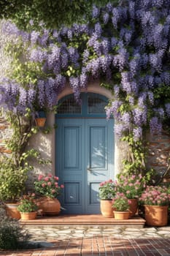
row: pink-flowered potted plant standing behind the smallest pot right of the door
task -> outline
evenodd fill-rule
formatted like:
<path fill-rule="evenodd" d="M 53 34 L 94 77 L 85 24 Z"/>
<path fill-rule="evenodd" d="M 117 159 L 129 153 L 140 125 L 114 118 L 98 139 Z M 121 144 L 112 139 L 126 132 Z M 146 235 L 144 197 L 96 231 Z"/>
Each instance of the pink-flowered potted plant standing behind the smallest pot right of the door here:
<path fill-rule="evenodd" d="M 123 176 L 120 175 L 115 182 L 115 189 L 117 192 L 122 192 L 125 197 L 131 200 L 130 204 L 130 216 L 133 217 L 138 209 L 138 198 L 142 195 L 145 182 L 144 177 L 141 174 Z"/>

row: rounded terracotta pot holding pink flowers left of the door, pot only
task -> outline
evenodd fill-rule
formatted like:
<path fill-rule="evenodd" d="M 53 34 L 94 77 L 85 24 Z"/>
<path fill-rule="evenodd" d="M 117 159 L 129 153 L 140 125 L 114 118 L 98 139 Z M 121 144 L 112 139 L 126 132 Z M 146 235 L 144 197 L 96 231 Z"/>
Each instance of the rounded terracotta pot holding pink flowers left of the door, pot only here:
<path fill-rule="evenodd" d="M 42 197 L 38 205 L 46 216 L 55 216 L 61 212 L 61 203 L 57 198 Z"/>

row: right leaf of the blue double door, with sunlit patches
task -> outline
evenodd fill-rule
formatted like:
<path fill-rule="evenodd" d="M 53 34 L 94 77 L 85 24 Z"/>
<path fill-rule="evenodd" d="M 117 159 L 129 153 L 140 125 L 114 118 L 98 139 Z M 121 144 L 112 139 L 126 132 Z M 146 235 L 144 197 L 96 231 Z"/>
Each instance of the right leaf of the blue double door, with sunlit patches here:
<path fill-rule="evenodd" d="M 98 188 L 101 181 L 113 178 L 113 120 L 105 118 L 86 119 L 85 131 L 86 141 L 90 150 L 86 163 L 88 197 L 86 197 L 85 211 L 87 214 L 100 213 Z M 108 140 L 110 135 L 110 143 Z M 108 154 L 112 156 L 108 161 Z"/>

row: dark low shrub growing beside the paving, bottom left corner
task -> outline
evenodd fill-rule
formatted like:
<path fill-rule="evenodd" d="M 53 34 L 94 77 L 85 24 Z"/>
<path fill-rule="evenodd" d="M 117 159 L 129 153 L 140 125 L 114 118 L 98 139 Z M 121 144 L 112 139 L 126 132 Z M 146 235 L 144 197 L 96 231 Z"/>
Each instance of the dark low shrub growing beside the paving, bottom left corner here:
<path fill-rule="evenodd" d="M 16 219 L 5 217 L 0 220 L 0 249 L 24 248 L 31 235 Z"/>

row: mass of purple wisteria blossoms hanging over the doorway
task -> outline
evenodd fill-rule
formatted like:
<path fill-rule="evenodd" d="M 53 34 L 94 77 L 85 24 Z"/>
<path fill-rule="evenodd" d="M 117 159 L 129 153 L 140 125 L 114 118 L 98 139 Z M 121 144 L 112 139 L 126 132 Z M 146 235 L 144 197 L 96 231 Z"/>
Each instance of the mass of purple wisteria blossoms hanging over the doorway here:
<path fill-rule="evenodd" d="M 102 79 L 113 91 L 107 117 L 115 117 L 119 137 L 131 132 L 140 140 L 146 126 L 159 133 L 161 121 L 170 117 L 169 1 L 94 6 L 88 24 L 58 31 L 26 33 L 11 23 L 5 31 L 21 37 L 28 49 L 19 72 L 1 83 L 0 103 L 9 110 L 52 109 L 66 82 L 79 101 L 89 80 Z"/>

